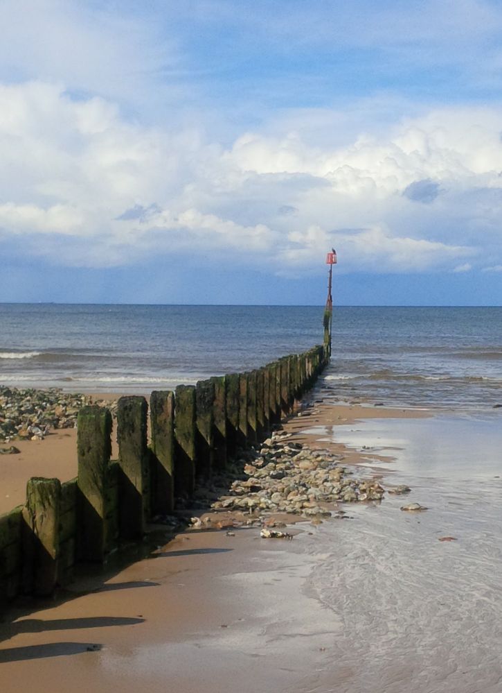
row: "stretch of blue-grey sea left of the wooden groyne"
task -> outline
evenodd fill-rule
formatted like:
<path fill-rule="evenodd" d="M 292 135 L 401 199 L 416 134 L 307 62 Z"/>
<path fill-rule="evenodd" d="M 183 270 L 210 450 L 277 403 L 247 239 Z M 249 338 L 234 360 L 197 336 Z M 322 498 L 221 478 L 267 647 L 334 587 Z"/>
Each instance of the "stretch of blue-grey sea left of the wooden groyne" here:
<path fill-rule="evenodd" d="M 0 384 L 141 392 L 257 368 L 322 341 L 323 308 L 0 305 Z"/>

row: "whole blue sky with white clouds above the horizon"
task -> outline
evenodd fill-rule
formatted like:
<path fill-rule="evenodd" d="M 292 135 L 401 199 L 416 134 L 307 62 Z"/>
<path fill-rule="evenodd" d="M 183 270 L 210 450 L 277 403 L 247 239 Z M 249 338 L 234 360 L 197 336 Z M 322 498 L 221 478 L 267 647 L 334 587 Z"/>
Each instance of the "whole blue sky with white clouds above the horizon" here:
<path fill-rule="evenodd" d="M 0 0 L 0 301 L 502 305 L 499 0 Z"/>

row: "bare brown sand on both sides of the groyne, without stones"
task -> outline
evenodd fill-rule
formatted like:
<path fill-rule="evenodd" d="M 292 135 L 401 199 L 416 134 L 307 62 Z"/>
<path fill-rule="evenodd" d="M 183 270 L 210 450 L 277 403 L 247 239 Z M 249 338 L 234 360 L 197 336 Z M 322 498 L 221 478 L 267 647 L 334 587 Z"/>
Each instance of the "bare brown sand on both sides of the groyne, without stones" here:
<path fill-rule="evenodd" d="M 299 435 L 349 420 L 422 415 L 316 405 L 287 429 Z M 2 482 L 10 497 L 19 502 L 17 487 L 41 473 L 44 455 L 53 464 L 46 473 L 75 476 L 69 434 L 23 446 L 19 469 Z M 318 436 L 301 437 L 326 447 L 316 443 Z M 363 458 L 358 453 L 350 461 Z M 6 460 L 15 468 L 9 456 L 0 465 Z M 320 693 L 316 681 L 336 658 L 329 636 L 341 624 L 303 591 L 306 576 L 323 560 L 302 549 L 318 528 L 306 522 L 294 531 L 291 542 L 262 540 L 256 528 L 235 529 L 235 536 L 225 529 L 188 531 L 142 561 L 80 578 L 57 601 L 18 606 L 0 625 L 0 690 Z M 338 671 L 330 690 L 343 690 L 346 676 L 350 672 Z"/>

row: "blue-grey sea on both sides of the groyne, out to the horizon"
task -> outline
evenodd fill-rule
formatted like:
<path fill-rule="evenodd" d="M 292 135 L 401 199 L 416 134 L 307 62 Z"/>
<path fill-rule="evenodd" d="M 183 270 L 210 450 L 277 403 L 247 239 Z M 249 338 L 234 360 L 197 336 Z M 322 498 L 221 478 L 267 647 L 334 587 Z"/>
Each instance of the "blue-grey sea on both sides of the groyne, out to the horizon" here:
<path fill-rule="evenodd" d="M 323 307 L 0 305 L 0 384 L 147 393 L 322 341 Z M 335 307 L 330 393 L 502 402 L 502 307 Z"/>

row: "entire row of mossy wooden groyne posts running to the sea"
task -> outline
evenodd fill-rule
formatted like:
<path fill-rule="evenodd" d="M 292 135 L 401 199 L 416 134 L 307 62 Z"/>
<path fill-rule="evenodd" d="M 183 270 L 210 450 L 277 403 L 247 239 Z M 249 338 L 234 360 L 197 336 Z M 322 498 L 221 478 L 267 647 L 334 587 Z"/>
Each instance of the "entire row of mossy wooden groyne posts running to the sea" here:
<path fill-rule="evenodd" d="M 80 562 L 106 560 L 122 540 L 141 540 L 147 520 L 189 504 L 197 484 L 225 469 L 294 409 L 327 362 L 325 347 L 264 368 L 120 397 L 118 460 L 111 461 L 109 409 L 78 414 L 78 477 L 35 477 L 26 504 L 0 516 L 0 599 L 51 594 Z"/>

